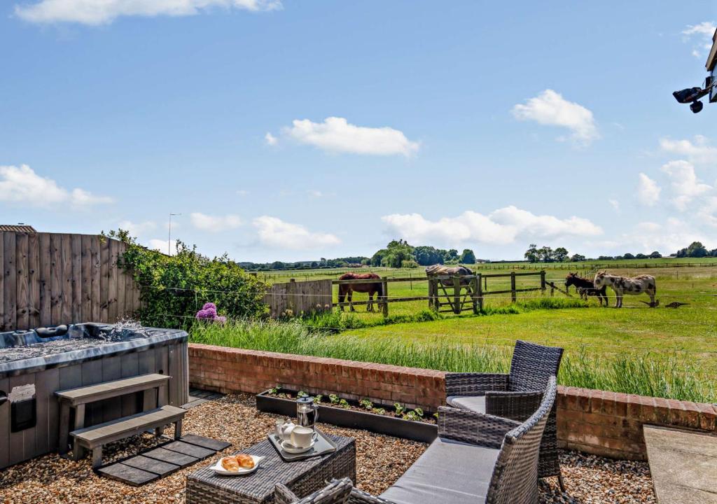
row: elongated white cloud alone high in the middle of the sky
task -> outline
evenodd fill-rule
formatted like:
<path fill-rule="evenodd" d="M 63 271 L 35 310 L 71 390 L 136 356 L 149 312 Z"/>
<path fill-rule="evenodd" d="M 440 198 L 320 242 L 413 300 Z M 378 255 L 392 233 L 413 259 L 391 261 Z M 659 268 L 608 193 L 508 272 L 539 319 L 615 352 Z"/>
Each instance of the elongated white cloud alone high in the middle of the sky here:
<path fill-rule="evenodd" d="M 324 151 L 391 156 L 411 156 L 419 148 L 402 131 L 384 126 L 369 128 L 349 124 L 344 118 L 326 118 L 323 123 L 295 119 L 284 132 L 295 141 Z"/>

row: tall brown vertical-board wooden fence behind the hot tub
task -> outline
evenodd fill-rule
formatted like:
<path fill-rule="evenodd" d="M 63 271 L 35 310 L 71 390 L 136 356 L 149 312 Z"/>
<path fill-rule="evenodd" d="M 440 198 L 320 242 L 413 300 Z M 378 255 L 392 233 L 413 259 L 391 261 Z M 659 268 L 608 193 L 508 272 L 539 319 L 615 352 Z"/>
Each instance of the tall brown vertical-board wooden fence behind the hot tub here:
<path fill-rule="evenodd" d="M 140 294 L 118 267 L 124 251 L 96 234 L 0 232 L 0 331 L 133 315 Z"/>

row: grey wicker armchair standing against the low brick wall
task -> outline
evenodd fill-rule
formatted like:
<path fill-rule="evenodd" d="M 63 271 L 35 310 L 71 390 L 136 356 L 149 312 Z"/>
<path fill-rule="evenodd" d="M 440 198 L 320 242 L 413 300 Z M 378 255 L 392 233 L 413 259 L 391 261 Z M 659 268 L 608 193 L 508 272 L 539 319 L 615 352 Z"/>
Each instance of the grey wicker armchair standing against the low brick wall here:
<path fill-rule="evenodd" d="M 558 375 L 562 356 L 562 348 L 518 340 L 510 374 L 446 374 L 446 402 L 456 408 L 523 422 L 541 404 L 542 391 L 549 377 Z M 545 427 L 538 465 L 538 477 L 548 476 L 557 476 L 564 490 L 558 460 L 556 406 Z"/>

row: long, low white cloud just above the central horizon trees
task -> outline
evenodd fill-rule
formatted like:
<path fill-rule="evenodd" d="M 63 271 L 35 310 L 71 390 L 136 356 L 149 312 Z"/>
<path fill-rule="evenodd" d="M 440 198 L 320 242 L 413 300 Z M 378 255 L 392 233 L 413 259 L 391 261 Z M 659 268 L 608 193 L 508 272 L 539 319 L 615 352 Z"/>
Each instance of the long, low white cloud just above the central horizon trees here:
<path fill-rule="evenodd" d="M 445 246 L 464 242 L 511 244 L 519 237 L 549 239 L 602 234 L 602 229 L 587 219 L 536 215 L 512 205 L 488 215 L 468 210 L 457 217 L 442 217 L 435 221 L 421 214 L 391 214 L 381 217 L 381 220 L 391 236 L 414 243 Z"/>

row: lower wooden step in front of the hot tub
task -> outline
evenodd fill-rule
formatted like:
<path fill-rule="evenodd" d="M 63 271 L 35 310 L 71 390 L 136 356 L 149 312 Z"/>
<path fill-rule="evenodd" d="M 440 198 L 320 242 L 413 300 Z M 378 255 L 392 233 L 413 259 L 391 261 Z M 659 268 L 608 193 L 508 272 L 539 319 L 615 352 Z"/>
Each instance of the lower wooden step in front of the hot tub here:
<path fill-rule="evenodd" d="M 174 439 L 179 439 L 185 413 L 185 409 L 166 405 L 148 412 L 78 429 L 70 432 L 70 436 L 75 439 L 75 453 L 81 454 L 82 448 L 92 450 L 92 467 L 96 468 L 102 465 L 103 445 L 141 434 L 147 429 L 161 429 L 167 424 L 175 424 Z"/>

